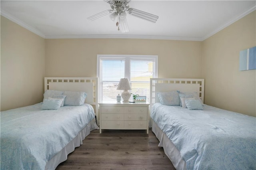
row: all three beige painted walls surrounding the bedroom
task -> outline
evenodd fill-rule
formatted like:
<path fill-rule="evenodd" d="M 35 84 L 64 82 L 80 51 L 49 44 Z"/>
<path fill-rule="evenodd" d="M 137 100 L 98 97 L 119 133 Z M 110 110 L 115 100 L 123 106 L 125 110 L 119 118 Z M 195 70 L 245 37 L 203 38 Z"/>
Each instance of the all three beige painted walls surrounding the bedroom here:
<path fill-rule="evenodd" d="M 44 73 L 96 77 L 97 54 L 137 54 L 158 55 L 158 77 L 204 78 L 206 104 L 256 116 L 256 70 L 239 71 L 239 51 L 256 45 L 255 16 L 203 42 L 44 40 L 1 16 L 1 110 L 42 101 Z"/>

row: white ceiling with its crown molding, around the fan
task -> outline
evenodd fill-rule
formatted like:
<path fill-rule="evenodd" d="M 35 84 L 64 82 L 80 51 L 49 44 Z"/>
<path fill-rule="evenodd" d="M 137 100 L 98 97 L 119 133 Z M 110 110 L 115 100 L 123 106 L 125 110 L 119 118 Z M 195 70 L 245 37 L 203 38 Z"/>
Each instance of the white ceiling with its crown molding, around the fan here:
<path fill-rule="evenodd" d="M 148 38 L 202 41 L 256 9 L 255 0 L 131 0 L 136 8 L 159 16 L 156 23 L 127 15 L 129 32 L 104 16 L 103 0 L 1 0 L 1 15 L 43 38 Z"/>

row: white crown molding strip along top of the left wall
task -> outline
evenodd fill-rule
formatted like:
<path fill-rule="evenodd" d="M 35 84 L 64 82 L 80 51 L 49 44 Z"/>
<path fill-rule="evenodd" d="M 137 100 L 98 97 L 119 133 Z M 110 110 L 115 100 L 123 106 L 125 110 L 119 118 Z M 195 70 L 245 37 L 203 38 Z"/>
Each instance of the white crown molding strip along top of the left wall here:
<path fill-rule="evenodd" d="M 19 20 L 18 18 L 12 16 L 8 12 L 5 12 L 4 10 L 1 10 L 1 15 L 4 16 L 5 18 L 8 18 L 12 22 L 14 22 L 14 23 L 16 23 L 16 24 L 26 28 L 27 30 L 33 32 L 34 34 L 36 34 L 36 35 L 38 35 L 38 36 L 40 36 L 42 38 L 45 38 L 45 35 L 42 32 L 40 32 L 40 31 L 36 30 L 35 28 L 29 26 L 25 22 L 22 22 L 21 20 Z"/>

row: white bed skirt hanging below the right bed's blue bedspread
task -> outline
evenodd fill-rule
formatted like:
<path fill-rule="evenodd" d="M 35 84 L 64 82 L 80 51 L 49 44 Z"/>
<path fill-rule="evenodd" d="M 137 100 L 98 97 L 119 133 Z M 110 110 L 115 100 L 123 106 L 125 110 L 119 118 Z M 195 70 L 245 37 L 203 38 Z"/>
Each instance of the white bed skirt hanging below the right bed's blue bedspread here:
<path fill-rule="evenodd" d="M 180 156 L 180 152 L 172 141 L 166 136 L 166 134 L 156 125 L 156 123 L 151 119 L 152 132 L 156 135 L 160 141 L 158 146 L 164 148 L 164 153 L 171 160 L 173 166 L 176 170 L 186 170 L 186 162 Z"/>

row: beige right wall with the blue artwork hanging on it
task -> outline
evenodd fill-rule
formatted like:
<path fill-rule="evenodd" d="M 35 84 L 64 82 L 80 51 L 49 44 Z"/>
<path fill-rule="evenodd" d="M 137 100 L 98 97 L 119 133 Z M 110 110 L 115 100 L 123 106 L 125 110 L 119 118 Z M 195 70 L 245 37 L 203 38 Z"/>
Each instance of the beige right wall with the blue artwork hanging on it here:
<path fill-rule="evenodd" d="M 239 51 L 256 46 L 256 12 L 202 43 L 204 102 L 256 116 L 256 70 L 239 71 Z"/>

